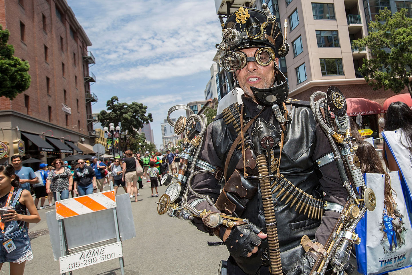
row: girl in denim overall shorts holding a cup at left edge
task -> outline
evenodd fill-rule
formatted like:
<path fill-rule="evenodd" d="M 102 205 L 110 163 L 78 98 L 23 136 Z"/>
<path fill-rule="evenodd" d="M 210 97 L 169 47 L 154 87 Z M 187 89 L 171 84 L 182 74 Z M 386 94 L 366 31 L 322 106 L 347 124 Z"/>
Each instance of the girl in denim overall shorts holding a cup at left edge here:
<path fill-rule="evenodd" d="M 23 275 L 26 261 L 33 259 L 26 223 L 38 223 L 40 216 L 30 191 L 19 188 L 19 176 L 9 164 L 0 166 L 0 204 L 11 208 L 1 214 L 0 270 L 9 262 L 11 275 Z"/>

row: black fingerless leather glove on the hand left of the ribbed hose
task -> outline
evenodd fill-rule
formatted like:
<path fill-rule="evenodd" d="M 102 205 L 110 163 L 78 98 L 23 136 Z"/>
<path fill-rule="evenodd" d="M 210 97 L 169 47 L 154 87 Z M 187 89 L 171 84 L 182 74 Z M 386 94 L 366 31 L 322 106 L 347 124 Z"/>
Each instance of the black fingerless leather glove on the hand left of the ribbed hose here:
<path fill-rule="evenodd" d="M 223 244 L 226 245 L 230 255 L 247 258 L 248 253 L 252 253 L 252 250 L 262 242 L 257 235 L 260 231 L 262 228 L 253 223 L 235 226 Z"/>

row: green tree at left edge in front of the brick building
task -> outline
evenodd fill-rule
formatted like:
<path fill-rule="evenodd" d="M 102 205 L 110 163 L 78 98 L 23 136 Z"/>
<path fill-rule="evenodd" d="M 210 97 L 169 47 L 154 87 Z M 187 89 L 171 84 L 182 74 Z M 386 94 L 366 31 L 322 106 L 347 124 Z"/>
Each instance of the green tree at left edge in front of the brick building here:
<path fill-rule="evenodd" d="M 0 96 L 12 100 L 30 87 L 31 77 L 28 62 L 14 56 L 13 45 L 7 44 L 9 36 L 9 30 L 0 25 Z"/>

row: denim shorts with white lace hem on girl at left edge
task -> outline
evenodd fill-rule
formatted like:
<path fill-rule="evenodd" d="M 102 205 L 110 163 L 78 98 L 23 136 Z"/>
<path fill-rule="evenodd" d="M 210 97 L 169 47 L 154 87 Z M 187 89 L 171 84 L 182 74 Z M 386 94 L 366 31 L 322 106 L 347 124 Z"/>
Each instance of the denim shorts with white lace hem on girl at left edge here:
<path fill-rule="evenodd" d="M 10 253 L 7 253 L 7 250 L 3 246 L 3 242 L 9 239 L 13 240 L 16 249 Z M 27 227 L 22 228 L 15 233 L 2 235 L 0 237 L 0 242 L 0 263 L 23 263 L 24 261 L 30 261 L 33 259 Z"/>

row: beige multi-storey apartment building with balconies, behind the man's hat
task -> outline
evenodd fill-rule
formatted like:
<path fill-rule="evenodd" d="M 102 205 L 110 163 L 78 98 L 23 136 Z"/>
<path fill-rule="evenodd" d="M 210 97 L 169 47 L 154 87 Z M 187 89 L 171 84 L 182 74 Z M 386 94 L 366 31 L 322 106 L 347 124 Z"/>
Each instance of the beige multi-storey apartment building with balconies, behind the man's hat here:
<path fill-rule="evenodd" d="M 383 8 L 383 2 L 390 7 L 391 2 L 409 1 L 278 1 L 281 21 L 287 19 L 289 26 L 286 65 L 290 97 L 309 100 L 313 92 L 326 92 L 330 85 L 339 87 L 346 98 L 363 97 L 380 104 L 393 96 L 392 91 L 373 91 L 366 83 L 358 68 L 363 58 L 371 56 L 368 49 L 351 46 L 352 40 L 368 35 L 370 14 Z"/>

